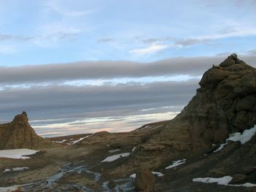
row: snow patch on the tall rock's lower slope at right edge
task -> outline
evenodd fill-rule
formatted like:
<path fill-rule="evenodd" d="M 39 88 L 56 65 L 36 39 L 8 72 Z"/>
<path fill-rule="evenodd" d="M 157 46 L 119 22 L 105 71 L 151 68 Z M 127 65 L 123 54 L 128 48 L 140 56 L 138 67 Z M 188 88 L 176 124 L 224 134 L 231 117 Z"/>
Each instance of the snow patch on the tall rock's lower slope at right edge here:
<path fill-rule="evenodd" d="M 241 142 L 241 145 L 243 145 L 244 143 L 252 139 L 255 133 L 256 133 L 256 125 L 253 128 L 244 130 L 242 134 L 239 132 L 230 134 L 229 137 L 226 139 L 226 142 L 220 145 L 219 148 L 217 148 L 217 150 L 214 150 L 214 153 L 219 150 L 222 150 L 227 145 L 227 141 Z"/>

